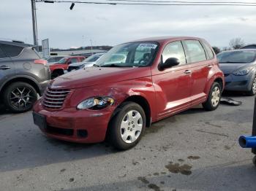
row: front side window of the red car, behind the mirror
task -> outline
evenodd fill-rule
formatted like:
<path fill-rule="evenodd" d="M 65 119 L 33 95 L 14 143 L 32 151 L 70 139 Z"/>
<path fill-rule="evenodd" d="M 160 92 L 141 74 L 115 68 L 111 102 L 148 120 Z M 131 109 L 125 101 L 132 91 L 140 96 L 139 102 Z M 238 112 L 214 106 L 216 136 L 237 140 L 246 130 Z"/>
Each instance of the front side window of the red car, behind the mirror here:
<path fill-rule="evenodd" d="M 166 45 L 162 51 L 162 62 L 165 63 L 168 58 L 178 58 L 179 65 L 186 64 L 184 49 L 180 41 Z"/>

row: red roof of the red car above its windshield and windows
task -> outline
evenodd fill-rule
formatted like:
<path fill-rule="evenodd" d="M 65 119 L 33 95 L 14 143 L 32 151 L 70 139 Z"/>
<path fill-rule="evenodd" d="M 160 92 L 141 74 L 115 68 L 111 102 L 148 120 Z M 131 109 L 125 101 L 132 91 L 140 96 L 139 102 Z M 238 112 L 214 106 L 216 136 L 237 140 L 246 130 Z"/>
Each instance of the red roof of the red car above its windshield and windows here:
<path fill-rule="evenodd" d="M 184 39 L 195 39 L 200 40 L 201 38 L 192 37 L 192 36 L 157 36 L 157 37 L 150 37 L 145 39 L 138 39 L 131 42 L 170 42 L 173 40 L 184 40 Z"/>

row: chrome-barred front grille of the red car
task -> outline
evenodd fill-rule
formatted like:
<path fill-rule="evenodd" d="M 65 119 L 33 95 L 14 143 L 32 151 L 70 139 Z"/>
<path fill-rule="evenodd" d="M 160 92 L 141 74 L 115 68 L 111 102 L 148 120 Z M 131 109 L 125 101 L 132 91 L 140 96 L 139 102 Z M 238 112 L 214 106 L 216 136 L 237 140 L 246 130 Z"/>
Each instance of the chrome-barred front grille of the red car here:
<path fill-rule="evenodd" d="M 47 87 L 42 98 L 42 104 L 49 109 L 60 109 L 69 92 L 70 90 L 67 89 L 57 90 Z"/>

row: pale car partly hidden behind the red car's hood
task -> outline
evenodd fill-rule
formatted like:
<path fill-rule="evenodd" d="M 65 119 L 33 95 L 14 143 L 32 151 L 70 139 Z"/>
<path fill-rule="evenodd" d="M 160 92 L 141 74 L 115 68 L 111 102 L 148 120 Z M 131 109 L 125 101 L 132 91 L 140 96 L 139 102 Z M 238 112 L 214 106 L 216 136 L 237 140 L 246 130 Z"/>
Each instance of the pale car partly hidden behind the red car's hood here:
<path fill-rule="evenodd" d="M 94 55 L 89 56 L 88 58 L 86 58 L 86 60 L 84 60 L 83 62 L 80 63 L 71 63 L 69 64 L 69 67 L 67 68 L 67 71 L 74 71 L 74 70 L 78 70 L 78 69 L 83 69 L 83 67 L 91 67 L 94 66 L 94 64 L 96 63 L 96 61 L 102 57 L 102 55 L 104 55 L 105 53 L 97 53 Z"/>

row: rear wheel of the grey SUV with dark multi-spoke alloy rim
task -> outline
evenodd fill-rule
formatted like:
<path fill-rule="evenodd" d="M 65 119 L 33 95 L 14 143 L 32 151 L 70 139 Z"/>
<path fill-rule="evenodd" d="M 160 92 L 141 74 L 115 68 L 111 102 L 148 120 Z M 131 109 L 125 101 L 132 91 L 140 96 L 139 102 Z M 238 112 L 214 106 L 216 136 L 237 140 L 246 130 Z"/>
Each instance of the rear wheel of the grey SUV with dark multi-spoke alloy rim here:
<path fill-rule="evenodd" d="M 4 104 L 11 112 L 27 112 L 35 101 L 37 91 L 26 82 L 14 82 L 4 91 Z"/>

